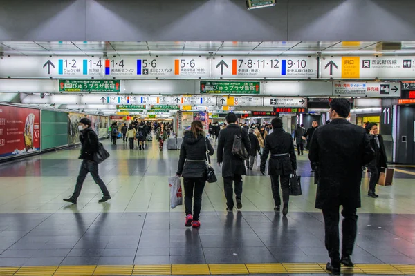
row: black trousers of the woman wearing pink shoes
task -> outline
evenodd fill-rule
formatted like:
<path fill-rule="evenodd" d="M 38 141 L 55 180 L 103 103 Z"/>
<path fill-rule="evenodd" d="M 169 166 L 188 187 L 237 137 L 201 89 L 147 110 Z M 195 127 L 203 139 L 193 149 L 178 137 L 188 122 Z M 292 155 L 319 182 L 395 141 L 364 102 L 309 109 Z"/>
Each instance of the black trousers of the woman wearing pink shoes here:
<path fill-rule="evenodd" d="M 186 215 L 193 215 L 193 220 L 199 221 L 199 215 L 202 208 L 202 195 L 205 188 L 205 177 L 183 178 L 183 186 L 185 187 L 185 210 Z M 194 204 L 192 204 L 194 199 Z M 193 213 L 192 213 L 193 206 Z"/>

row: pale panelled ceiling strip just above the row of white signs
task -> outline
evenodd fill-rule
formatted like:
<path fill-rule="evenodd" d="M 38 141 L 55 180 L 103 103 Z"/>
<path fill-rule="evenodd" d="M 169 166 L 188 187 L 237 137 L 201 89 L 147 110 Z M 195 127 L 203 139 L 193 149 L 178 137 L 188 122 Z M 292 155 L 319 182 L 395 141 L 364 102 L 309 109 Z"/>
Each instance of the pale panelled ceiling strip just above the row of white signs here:
<path fill-rule="evenodd" d="M 380 41 L 51 41 L 0 42 L 4 55 L 414 55 L 415 41 L 400 50 L 377 50 Z"/>

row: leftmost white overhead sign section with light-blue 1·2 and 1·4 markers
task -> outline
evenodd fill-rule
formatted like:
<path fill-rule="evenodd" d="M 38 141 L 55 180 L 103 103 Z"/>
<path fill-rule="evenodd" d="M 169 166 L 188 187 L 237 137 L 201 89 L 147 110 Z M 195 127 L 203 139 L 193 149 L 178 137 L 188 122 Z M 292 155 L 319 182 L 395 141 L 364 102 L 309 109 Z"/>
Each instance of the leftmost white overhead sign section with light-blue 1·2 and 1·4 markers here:
<path fill-rule="evenodd" d="M 75 78 L 102 77 L 104 61 L 100 57 L 3 57 L 0 77 Z"/>

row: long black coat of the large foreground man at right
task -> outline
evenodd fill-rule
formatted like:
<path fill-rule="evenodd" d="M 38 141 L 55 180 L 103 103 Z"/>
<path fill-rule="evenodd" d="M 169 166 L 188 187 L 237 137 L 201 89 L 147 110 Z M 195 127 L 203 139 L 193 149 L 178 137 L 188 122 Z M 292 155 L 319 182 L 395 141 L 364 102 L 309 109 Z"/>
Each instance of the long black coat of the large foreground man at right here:
<path fill-rule="evenodd" d="M 362 166 L 373 158 L 365 129 L 346 119 L 333 119 L 315 130 L 308 153 L 319 175 L 315 208 L 360 208 Z"/>

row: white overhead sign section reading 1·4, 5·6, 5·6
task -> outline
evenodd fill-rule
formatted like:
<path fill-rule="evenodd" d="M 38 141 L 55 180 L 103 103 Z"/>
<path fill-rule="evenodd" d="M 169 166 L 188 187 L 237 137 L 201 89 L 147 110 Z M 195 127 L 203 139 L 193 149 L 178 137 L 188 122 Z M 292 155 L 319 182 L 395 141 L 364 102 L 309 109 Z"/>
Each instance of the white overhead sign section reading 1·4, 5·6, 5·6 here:
<path fill-rule="evenodd" d="M 209 77 L 206 57 L 115 57 L 104 60 L 104 77 L 124 79 Z"/>

